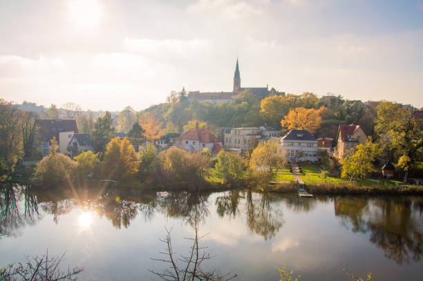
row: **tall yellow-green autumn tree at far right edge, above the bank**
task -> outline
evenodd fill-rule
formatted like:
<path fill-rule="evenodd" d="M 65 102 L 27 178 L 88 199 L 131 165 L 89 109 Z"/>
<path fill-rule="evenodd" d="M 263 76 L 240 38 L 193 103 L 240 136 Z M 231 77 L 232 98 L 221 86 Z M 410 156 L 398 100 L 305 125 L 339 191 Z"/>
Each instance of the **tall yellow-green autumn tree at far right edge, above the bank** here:
<path fill-rule="evenodd" d="M 389 158 L 392 159 L 394 153 L 400 156 L 399 159 L 402 158 L 401 167 L 406 172 L 404 182 L 407 182 L 408 171 L 420 158 L 422 151 L 423 135 L 420 124 L 400 104 L 384 101 L 376 109 L 375 131 L 379 142 L 388 151 Z"/>

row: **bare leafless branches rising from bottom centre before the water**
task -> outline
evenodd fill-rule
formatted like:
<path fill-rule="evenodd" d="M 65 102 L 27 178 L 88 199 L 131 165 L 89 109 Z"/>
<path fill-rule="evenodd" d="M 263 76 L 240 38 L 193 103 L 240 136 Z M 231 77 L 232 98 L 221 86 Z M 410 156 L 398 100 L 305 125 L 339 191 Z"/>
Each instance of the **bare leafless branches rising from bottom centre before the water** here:
<path fill-rule="evenodd" d="M 226 281 L 236 278 L 236 274 L 226 273 L 222 274 L 217 269 L 212 271 L 206 271 L 202 268 L 202 264 L 205 260 L 211 258 L 210 253 L 205 251 L 207 247 L 199 246 L 198 241 L 204 237 L 198 236 L 198 224 L 200 222 L 200 215 L 196 212 L 194 215 L 191 215 L 189 218 L 189 223 L 194 228 L 195 236 L 194 238 L 185 238 L 189 240 L 192 244 L 189 248 L 189 253 L 187 255 L 178 255 L 173 252 L 172 243 L 171 243 L 171 231 L 172 229 L 167 229 L 166 238 L 161 239 L 160 241 L 166 244 L 164 251 L 160 253 L 165 256 L 165 258 L 151 258 L 152 260 L 158 260 L 159 262 L 164 262 L 169 264 L 167 269 L 164 269 L 162 272 L 152 271 L 151 273 L 158 275 L 162 280 L 165 281 L 194 281 L 194 280 L 207 280 L 207 281 Z"/>

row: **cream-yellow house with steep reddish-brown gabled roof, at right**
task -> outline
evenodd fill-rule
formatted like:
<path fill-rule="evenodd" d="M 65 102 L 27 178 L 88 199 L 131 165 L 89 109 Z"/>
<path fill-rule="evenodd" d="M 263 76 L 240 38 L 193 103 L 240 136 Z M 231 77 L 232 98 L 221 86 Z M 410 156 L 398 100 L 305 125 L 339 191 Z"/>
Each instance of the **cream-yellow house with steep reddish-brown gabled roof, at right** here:
<path fill-rule="evenodd" d="M 344 159 L 345 155 L 354 150 L 357 145 L 367 142 L 364 130 L 355 124 L 339 125 L 338 127 L 338 144 L 335 148 L 334 155 L 337 159 Z"/>

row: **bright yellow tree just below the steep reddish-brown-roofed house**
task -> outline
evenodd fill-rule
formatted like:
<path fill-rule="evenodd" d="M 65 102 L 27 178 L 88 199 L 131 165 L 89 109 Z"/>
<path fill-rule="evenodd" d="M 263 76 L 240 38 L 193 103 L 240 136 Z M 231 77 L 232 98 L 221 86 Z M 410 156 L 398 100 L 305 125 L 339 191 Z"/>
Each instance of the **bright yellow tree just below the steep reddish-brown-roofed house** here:
<path fill-rule="evenodd" d="M 350 153 L 341 162 L 341 176 L 350 177 L 352 180 L 353 177 L 368 177 L 370 173 L 376 171 L 373 162 L 382 154 L 382 148 L 379 144 L 373 144 L 370 138 L 365 144 L 359 144 L 355 151 L 350 151 Z"/>

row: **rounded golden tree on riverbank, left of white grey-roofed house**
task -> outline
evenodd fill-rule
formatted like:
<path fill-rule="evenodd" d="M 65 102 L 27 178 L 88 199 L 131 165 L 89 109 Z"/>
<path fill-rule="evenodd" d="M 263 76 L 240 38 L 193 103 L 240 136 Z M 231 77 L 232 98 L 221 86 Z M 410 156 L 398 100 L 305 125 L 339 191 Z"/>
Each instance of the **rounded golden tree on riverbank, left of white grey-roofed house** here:
<path fill-rule="evenodd" d="M 277 175 L 278 170 L 286 164 L 285 157 L 277 153 L 277 144 L 270 141 L 259 144 L 250 158 L 250 169 L 265 173 L 268 180 Z"/>

